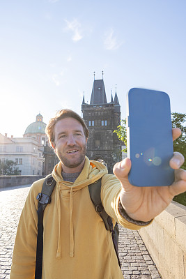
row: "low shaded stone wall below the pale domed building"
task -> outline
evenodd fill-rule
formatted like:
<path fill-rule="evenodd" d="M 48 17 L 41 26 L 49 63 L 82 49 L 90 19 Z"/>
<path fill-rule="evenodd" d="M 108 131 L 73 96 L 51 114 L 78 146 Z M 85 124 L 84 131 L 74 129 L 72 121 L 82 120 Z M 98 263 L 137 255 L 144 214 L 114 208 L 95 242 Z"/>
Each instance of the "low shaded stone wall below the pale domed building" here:
<path fill-rule="evenodd" d="M 42 179 L 42 175 L 14 175 L 14 176 L 0 176 L 0 188 L 6 186 L 20 186 L 32 184 L 38 179 Z"/>

